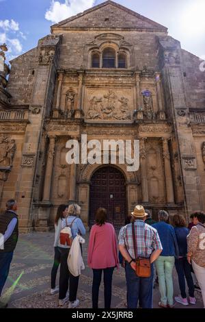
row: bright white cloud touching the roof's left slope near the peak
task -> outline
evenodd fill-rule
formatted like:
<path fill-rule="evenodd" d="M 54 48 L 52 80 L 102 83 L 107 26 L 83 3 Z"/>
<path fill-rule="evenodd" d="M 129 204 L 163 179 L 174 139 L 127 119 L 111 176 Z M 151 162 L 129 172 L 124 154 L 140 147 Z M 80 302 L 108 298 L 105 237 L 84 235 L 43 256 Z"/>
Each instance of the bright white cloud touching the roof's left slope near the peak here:
<path fill-rule="evenodd" d="M 83 12 L 94 5 L 94 0 L 64 0 L 64 3 L 52 0 L 49 10 L 46 11 L 46 20 L 59 23 L 70 16 Z"/>

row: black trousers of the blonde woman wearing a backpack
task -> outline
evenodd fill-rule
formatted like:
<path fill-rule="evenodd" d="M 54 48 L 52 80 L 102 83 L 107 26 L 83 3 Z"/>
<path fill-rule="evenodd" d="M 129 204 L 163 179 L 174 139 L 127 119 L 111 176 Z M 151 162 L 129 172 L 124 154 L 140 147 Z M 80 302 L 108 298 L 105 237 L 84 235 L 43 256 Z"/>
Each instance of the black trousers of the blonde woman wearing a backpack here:
<path fill-rule="evenodd" d="M 68 291 L 69 284 L 69 301 L 75 301 L 77 299 L 77 290 L 79 286 L 79 276 L 73 276 L 68 269 L 68 253 L 70 249 L 59 247 L 61 253 L 61 266 L 59 275 L 59 299 L 64 299 Z"/>

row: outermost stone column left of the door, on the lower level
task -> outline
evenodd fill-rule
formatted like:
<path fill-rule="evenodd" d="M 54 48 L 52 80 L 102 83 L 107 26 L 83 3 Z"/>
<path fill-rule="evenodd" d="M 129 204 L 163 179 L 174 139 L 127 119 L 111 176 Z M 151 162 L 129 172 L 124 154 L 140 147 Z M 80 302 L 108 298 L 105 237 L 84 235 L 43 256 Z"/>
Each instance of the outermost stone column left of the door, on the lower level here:
<path fill-rule="evenodd" d="M 50 201 L 51 195 L 51 181 L 52 181 L 52 173 L 53 173 L 53 158 L 55 155 L 55 140 L 56 136 L 49 136 L 49 155 L 46 164 L 46 175 L 44 181 L 44 195 L 43 202 Z"/>

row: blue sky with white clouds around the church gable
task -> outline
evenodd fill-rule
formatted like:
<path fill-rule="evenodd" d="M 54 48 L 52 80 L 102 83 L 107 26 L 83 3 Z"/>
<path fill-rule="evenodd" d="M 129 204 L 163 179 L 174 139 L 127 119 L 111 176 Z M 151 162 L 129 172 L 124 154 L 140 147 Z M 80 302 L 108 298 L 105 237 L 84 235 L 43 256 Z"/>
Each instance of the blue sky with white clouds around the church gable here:
<path fill-rule="evenodd" d="M 8 60 L 38 45 L 50 26 L 104 0 L 0 0 L 0 44 Z M 168 28 L 183 49 L 205 60 L 205 0 L 117 0 Z"/>

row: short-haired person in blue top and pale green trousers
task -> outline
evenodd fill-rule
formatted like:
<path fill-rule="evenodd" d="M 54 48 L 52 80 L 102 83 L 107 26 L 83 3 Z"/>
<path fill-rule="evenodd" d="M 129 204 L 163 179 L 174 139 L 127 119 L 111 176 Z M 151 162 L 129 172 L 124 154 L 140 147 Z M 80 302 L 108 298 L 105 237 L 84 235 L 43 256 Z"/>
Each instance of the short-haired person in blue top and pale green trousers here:
<path fill-rule="evenodd" d="M 178 244 L 174 227 L 167 223 L 169 214 L 165 210 L 160 210 L 158 219 L 159 223 L 154 223 L 152 227 L 157 230 L 163 247 L 163 251 L 155 261 L 156 273 L 159 279 L 159 292 L 161 294 L 159 306 L 161 308 L 173 308 L 174 288 L 172 273 L 175 261 L 174 256 L 178 257 Z"/>

